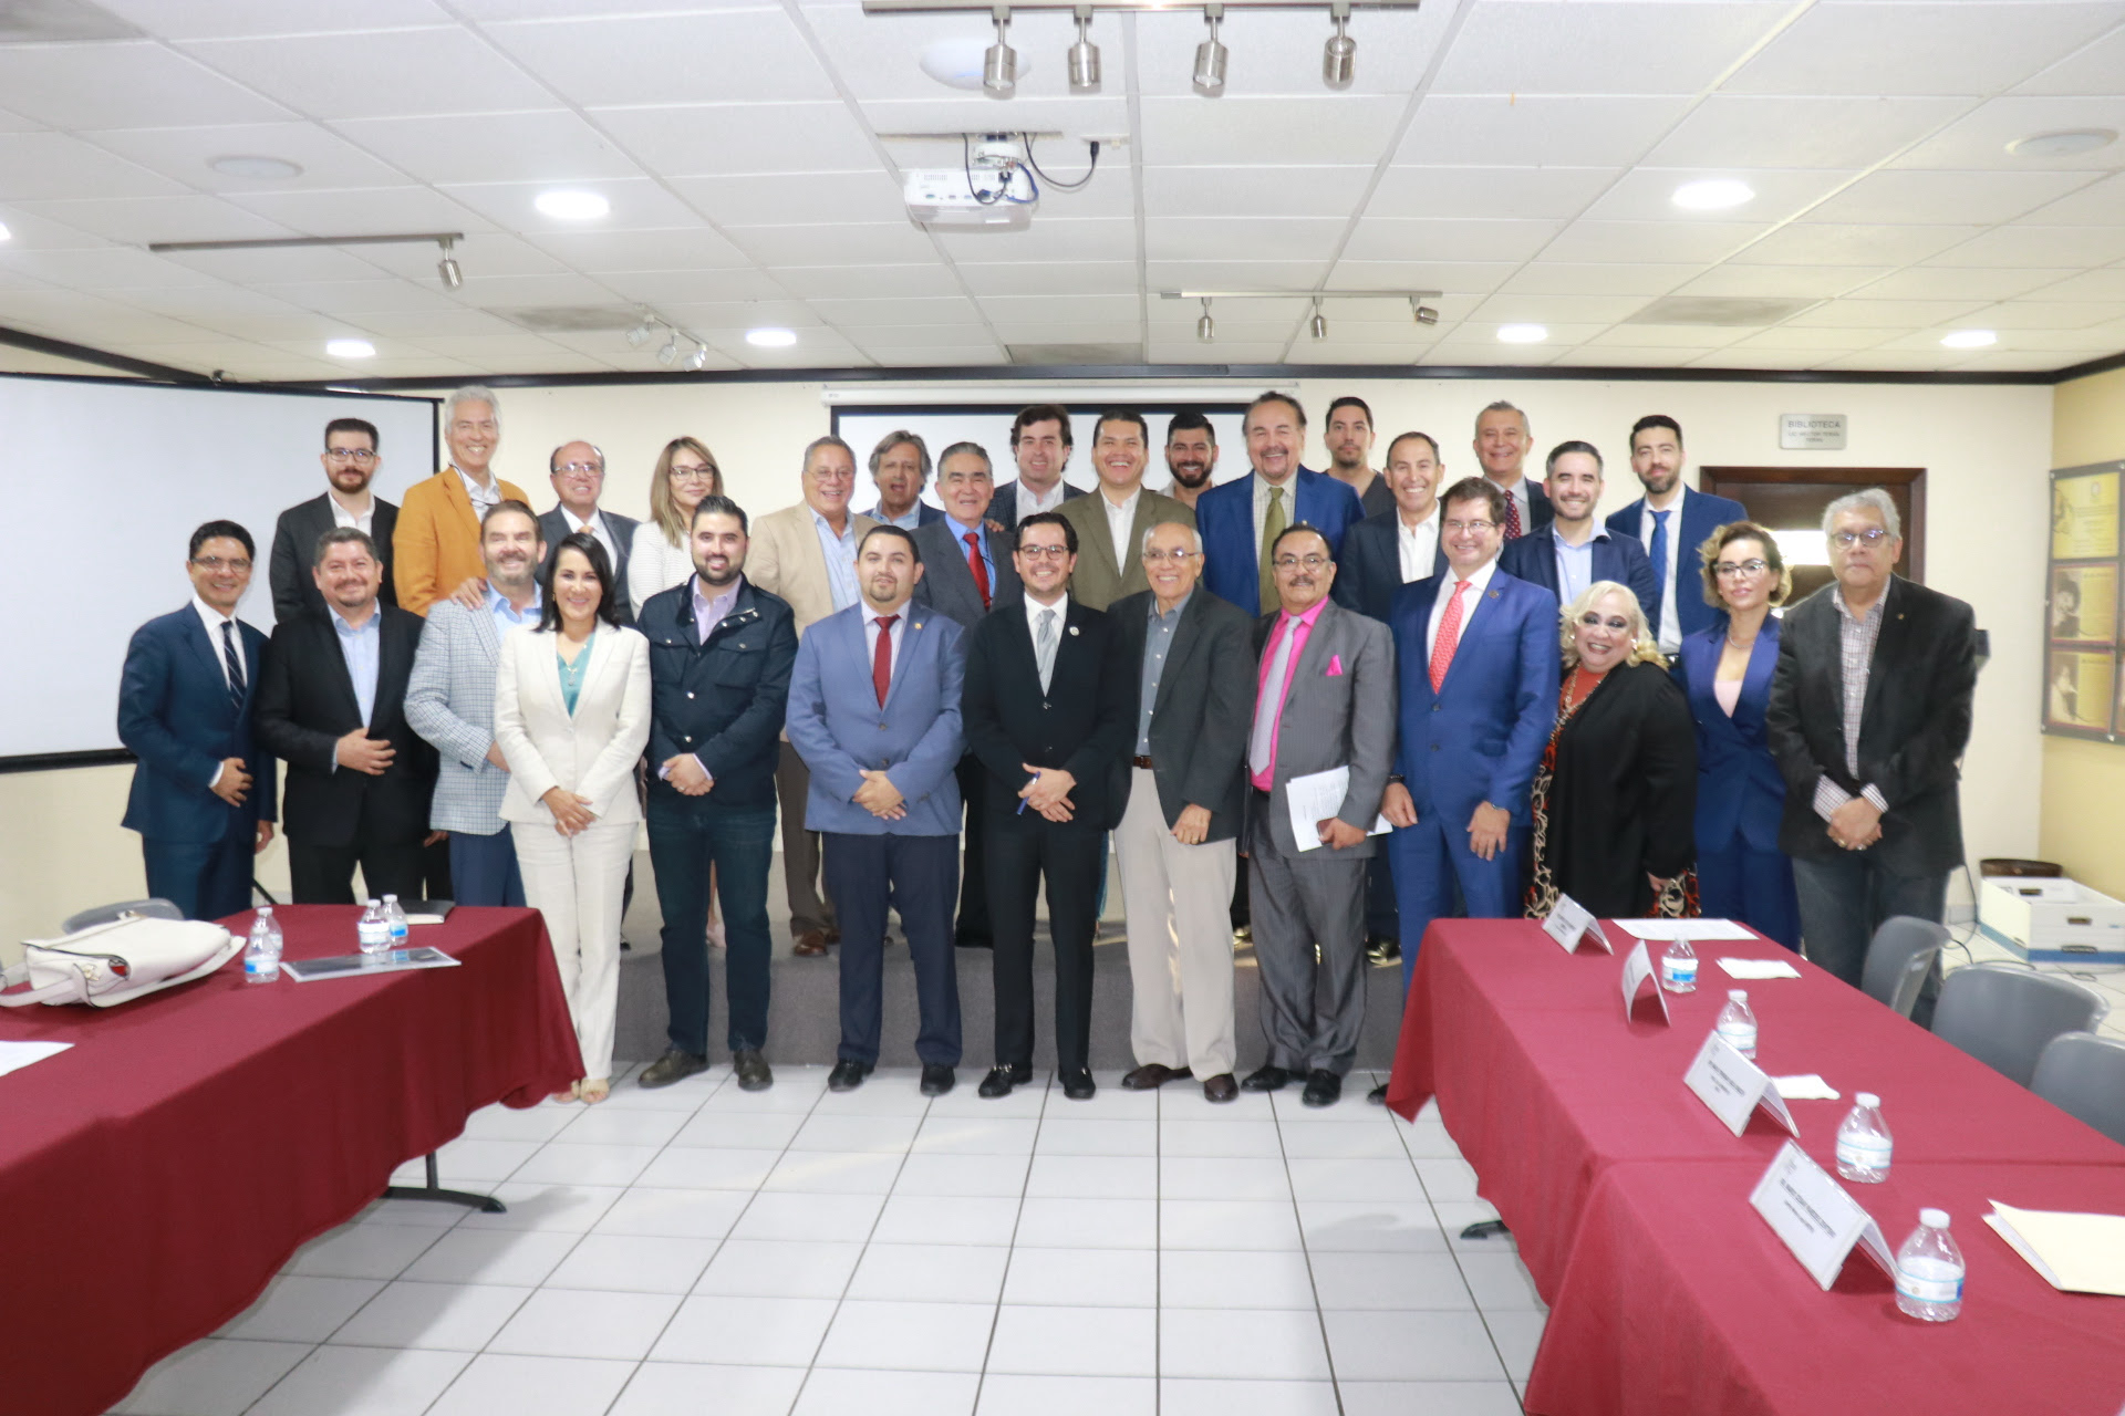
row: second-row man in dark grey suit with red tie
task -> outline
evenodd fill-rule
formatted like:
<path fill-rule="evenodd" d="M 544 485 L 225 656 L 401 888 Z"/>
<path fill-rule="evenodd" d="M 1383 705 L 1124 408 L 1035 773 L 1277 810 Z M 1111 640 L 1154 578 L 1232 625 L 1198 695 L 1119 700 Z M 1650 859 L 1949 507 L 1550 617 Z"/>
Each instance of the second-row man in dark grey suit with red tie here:
<path fill-rule="evenodd" d="M 1014 535 L 988 522 L 994 476 L 982 444 L 956 442 L 946 448 L 937 459 L 937 499 L 944 501 L 944 516 L 916 526 L 914 533 L 924 567 L 922 580 L 916 582 L 916 601 L 960 628 L 973 628 L 992 605 L 1020 597 L 1018 571 L 1012 567 Z M 988 866 L 982 856 L 982 802 L 988 788 L 982 758 L 973 756 L 973 747 L 958 760 L 958 796 L 967 802 L 967 834 L 954 938 L 960 949 L 990 949 L 994 934 L 988 928 Z"/>

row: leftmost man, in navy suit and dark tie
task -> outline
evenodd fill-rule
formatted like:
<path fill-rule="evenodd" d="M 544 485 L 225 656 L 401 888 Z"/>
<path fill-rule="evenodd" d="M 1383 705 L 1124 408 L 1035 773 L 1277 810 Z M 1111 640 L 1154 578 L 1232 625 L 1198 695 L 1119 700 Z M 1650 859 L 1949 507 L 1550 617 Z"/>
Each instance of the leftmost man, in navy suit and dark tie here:
<path fill-rule="evenodd" d="M 266 635 L 236 618 L 255 556 L 232 520 L 193 531 L 191 603 L 136 628 L 119 675 L 119 741 L 138 758 L 125 828 L 147 892 L 185 919 L 251 904 L 251 858 L 276 819 L 274 760 L 251 741 Z"/>

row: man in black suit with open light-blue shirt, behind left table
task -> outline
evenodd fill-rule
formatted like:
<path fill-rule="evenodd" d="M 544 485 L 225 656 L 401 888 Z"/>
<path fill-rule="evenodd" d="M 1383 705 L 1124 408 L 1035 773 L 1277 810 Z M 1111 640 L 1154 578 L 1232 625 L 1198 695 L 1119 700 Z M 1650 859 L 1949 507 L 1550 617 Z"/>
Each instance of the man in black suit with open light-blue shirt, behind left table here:
<path fill-rule="evenodd" d="M 406 722 L 421 616 L 380 603 L 376 541 L 334 526 L 310 577 L 325 609 L 283 620 L 259 673 L 257 739 L 287 762 L 280 826 L 295 904 L 421 896 L 436 749 Z"/>

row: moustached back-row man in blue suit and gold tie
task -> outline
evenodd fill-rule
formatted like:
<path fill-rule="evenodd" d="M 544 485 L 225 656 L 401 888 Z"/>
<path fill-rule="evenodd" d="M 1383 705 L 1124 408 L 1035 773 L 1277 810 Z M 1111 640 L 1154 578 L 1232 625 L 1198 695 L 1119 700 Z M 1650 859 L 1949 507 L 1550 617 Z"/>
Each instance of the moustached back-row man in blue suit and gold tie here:
<path fill-rule="evenodd" d="M 1203 586 L 1252 616 L 1277 607 L 1269 546 L 1286 526 L 1305 522 L 1341 554 L 1343 531 L 1364 520 L 1358 493 L 1324 471 L 1298 465 L 1307 448 L 1307 410 L 1288 393 L 1264 393 L 1247 405 L 1247 461 L 1254 471 L 1213 486 L 1196 501 L 1203 535 Z"/>

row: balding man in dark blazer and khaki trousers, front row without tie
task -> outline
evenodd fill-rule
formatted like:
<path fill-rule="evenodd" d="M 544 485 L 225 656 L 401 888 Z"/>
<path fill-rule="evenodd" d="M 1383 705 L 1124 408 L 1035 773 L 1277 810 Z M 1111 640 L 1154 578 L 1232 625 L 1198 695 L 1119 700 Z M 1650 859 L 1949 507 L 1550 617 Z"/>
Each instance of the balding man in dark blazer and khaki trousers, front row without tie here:
<path fill-rule="evenodd" d="M 1254 624 L 1196 586 L 1203 537 L 1160 522 L 1141 539 L 1148 590 L 1118 599 L 1120 654 L 1139 671 L 1137 745 L 1122 824 L 1114 832 L 1128 909 L 1135 989 L 1130 1091 L 1179 1076 L 1230 1102 L 1232 881 L 1247 813 L 1241 766 L 1254 715 Z"/>

